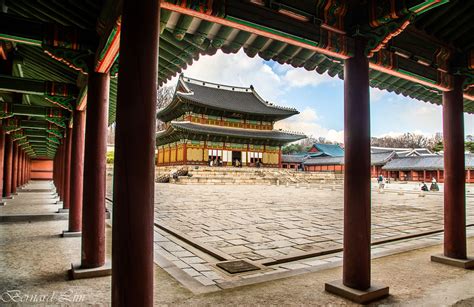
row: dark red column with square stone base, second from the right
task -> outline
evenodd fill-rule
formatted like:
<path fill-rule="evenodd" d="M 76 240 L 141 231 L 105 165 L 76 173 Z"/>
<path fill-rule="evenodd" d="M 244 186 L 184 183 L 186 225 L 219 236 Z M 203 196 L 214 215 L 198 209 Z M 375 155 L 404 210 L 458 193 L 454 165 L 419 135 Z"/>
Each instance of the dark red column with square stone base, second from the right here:
<path fill-rule="evenodd" d="M 355 38 L 344 62 L 344 251 L 343 279 L 326 291 L 365 303 L 388 295 L 370 280 L 370 96 L 365 40 Z M 354 291 L 359 290 L 359 292 Z"/>

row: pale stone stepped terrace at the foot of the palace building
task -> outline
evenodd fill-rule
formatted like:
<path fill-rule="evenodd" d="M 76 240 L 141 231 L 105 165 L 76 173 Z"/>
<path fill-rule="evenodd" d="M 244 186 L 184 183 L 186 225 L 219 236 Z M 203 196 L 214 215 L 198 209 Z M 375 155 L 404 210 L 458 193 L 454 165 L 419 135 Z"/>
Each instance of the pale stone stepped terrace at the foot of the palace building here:
<path fill-rule="evenodd" d="M 157 176 L 169 174 L 179 167 L 158 167 Z M 343 176 L 330 172 L 296 172 L 275 168 L 235 168 L 188 166 L 190 176 L 171 179 L 175 184 L 260 184 L 260 185 L 308 185 L 342 184 Z"/>

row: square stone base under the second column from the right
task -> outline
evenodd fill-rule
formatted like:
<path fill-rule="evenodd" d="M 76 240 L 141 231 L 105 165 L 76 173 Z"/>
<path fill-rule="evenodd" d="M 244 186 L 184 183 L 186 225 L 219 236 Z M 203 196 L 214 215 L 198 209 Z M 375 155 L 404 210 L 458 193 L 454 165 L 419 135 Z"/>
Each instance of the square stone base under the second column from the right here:
<path fill-rule="evenodd" d="M 385 286 L 372 284 L 372 286 L 367 290 L 358 290 L 345 286 L 342 283 L 342 280 L 326 283 L 324 285 L 324 290 L 358 304 L 367 304 L 389 295 L 389 288 Z"/>

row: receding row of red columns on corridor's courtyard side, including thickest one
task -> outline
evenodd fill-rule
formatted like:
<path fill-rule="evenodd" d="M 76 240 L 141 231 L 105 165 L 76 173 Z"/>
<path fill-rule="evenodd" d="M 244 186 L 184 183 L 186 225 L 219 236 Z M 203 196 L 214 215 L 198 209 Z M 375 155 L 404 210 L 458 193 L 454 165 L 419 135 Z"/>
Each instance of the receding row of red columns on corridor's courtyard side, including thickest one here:
<path fill-rule="evenodd" d="M 114 305 L 153 305 L 158 38 L 159 1 L 125 1 L 114 165 Z M 54 158 L 57 194 L 69 208 L 68 231 L 82 232 L 81 268 L 87 269 L 105 264 L 109 82 L 108 73 L 89 72 L 87 111 L 74 111 Z"/>

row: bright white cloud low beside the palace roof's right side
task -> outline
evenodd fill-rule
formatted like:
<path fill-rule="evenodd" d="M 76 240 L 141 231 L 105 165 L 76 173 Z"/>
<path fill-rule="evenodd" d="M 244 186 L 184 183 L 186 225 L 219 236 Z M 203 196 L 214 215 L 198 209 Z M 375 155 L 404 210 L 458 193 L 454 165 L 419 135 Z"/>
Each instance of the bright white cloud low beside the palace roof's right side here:
<path fill-rule="evenodd" d="M 315 109 L 307 107 L 300 114 L 279 121 L 276 129 L 303 132 L 308 137 L 324 137 L 330 141 L 344 142 L 344 131 L 336 131 L 322 127 L 318 123 L 319 116 Z"/>

